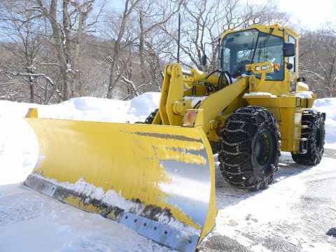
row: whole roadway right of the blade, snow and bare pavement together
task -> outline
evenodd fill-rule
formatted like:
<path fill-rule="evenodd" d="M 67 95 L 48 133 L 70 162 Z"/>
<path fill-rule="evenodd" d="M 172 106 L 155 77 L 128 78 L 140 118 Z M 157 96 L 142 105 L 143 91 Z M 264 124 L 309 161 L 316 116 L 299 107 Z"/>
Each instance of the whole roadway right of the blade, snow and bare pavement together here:
<path fill-rule="evenodd" d="M 315 167 L 281 153 L 274 183 L 252 193 L 231 188 L 216 167 L 216 228 L 200 251 L 336 251 L 336 150 L 325 152 Z"/>

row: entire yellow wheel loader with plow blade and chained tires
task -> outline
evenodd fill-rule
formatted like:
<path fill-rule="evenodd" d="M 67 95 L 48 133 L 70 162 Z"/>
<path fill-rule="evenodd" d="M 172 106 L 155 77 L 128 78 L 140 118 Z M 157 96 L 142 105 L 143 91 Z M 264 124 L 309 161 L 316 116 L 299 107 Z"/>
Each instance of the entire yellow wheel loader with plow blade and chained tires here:
<path fill-rule="evenodd" d="M 25 185 L 127 225 L 179 251 L 214 228 L 215 172 L 247 190 L 267 188 L 280 151 L 321 161 L 325 114 L 298 75 L 298 34 L 251 25 L 221 36 L 211 72 L 165 67 L 160 106 L 146 124 L 25 118 L 39 141 Z"/>

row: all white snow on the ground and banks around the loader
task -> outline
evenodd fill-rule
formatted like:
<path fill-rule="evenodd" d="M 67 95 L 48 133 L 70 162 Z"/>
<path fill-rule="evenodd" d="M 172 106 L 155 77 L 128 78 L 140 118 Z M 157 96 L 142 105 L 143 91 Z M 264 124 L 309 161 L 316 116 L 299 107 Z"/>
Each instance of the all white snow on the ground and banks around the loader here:
<path fill-rule="evenodd" d="M 57 202 L 22 184 L 38 155 L 34 132 L 22 119 L 29 107 L 38 107 L 42 118 L 134 123 L 144 121 L 158 108 L 159 99 L 160 94 L 152 92 L 128 102 L 93 97 L 49 106 L 0 101 L 0 251 L 170 251 L 123 225 Z M 318 99 L 314 106 L 327 113 L 325 147 L 336 149 L 336 98 Z M 225 183 L 217 163 L 216 228 L 201 244 L 201 250 L 216 251 L 211 248 L 211 237 L 225 236 L 250 251 L 272 251 L 262 242 L 246 238 L 248 233 L 260 239 L 281 237 L 289 244 L 300 244 L 302 251 L 336 251 L 335 238 L 316 235 L 313 239 L 314 234 L 286 232 L 288 227 L 300 227 L 307 217 L 295 208 L 310 190 L 307 183 L 311 178 L 330 176 L 336 177 L 335 159 L 323 158 L 320 165 L 307 169 L 281 153 L 274 183 L 267 190 L 246 193 Z M 330 228 L 336 227 L 334 211 Z M 281 223 L 286 227 L 276 230 Z"/>

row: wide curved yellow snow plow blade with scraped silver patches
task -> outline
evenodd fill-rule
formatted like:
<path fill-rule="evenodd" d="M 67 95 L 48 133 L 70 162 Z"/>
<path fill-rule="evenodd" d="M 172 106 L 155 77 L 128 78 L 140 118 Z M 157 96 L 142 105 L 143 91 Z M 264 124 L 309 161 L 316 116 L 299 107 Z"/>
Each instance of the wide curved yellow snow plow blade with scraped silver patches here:
<path fill-rule="evenodd" d="M 202 127 L 25 120 L 39 143 L 26 186 L 179 251 L 195 251 L 214 228 L 214 160 Z"/>

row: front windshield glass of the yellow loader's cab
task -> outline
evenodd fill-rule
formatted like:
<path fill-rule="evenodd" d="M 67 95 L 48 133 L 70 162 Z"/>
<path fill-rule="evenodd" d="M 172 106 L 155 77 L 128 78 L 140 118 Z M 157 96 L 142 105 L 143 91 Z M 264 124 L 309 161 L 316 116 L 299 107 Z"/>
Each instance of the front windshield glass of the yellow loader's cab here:
<path fill-rule="evenodd" d="M 280 64 L 280 70 L 267 73 L 266 80 L 283 80 L 283 38 L 249 29 L 226 35 L 222 41 L 221 68 L 232 76 L 245 73 L 245 65 L 260 62 Z M 260 78 L 260 75 L 256 75 Z"/>

